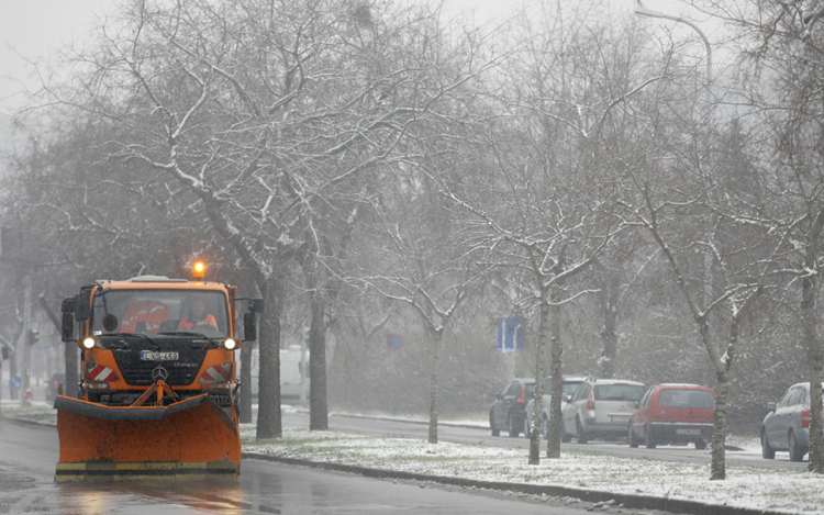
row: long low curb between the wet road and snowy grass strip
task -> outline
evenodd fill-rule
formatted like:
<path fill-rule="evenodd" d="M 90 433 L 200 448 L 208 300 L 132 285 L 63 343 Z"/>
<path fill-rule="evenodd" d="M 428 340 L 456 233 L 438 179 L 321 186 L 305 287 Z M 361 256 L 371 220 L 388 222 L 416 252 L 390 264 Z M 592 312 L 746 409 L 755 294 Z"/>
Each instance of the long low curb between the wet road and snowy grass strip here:
<path fill-rule="evenodd" d="M 532 483 L 509 483 L 504 481 L 481 481 L 466 478 L 455 478 L 448 475 L 428 475 L 415 472 L 403 472 L 398 470 L 372 469 L 367 467 L 333 463 L 327 461 L 311 461 L 299 458 L 283 458 L 279 456 L 265 455 L 260 452 L 242 452 L 246 459 L 256 459 L 261 461 L 276 461 L 285 464 L 297 464 L 313 469 L 333 470 L 337 472 L 350 472 L 367 478 L 376 479 L 399 479 L 407 481 L 434 482 L 448 484 L 452 486 L 475 488 L 497 490 L 501 492 L 517 492 L 530 495 L 548 495 L 553 497 L 574 497 L 589 503 L 604 503 L 613 501 L 615 504 L 623 504 L 624 508 L 630 510 L 657 510 L 660 512 L 670 512 L 689 515 L 787 515 L 790 512 L 772 512 L 769 510 L 747 508 L 737 506 L 727 506 L 723 504 L 706 504 L 698 501 L 652 497 L 646 495 L 633 495 L 610 493 L 597 490 L 576 489 L 570 486 L 560 486 L 553 484 L 532 484 Z"/>

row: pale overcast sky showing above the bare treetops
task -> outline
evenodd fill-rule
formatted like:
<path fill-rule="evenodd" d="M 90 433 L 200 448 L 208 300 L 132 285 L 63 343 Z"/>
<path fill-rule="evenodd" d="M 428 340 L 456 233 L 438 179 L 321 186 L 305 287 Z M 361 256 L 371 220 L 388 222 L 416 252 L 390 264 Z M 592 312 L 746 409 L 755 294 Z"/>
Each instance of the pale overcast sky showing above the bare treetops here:
<path fill-rule="evenodd" d="M 511 11 L 517 0 L 447 0 L 456 9 L 474 9 L 479 22 Z M 578 1 L 578 0 L 568 0 Z M 602 0 L 627 11 L 634 0 Z M 645 0 L 649 7 L 666 10 L 673 0 Z M 90 26 L 118 0 L 0 0 L 0 113 L 9 113 L 20 102 L 19 91 L 36 88 L 27 60 L 49 64 L 56 48 L 70 42 L 82 43 Z"/>

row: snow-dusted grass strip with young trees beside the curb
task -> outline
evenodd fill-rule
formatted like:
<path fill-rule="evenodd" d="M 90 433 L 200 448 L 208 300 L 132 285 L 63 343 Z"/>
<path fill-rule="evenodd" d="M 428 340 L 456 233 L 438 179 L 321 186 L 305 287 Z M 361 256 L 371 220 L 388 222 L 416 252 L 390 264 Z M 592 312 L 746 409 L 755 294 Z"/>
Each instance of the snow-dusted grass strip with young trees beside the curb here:
<path fill-rule="evenodd" d="M 725 481 L 710 481 L 709 464 L 631 460 L 564 451 L 527 464 L 523 449 L 375 438 L 287 427 L 283 438 L 255 440 L 254 425 L 242 425 L 245 451 L 404 472 L 552 484 L 656 497 L 687 499 L 788 513 L 824 514 L 824 478 L 806 471 L 726 467 Z M 747 451 L 753 451 L 748 449 Z"/>

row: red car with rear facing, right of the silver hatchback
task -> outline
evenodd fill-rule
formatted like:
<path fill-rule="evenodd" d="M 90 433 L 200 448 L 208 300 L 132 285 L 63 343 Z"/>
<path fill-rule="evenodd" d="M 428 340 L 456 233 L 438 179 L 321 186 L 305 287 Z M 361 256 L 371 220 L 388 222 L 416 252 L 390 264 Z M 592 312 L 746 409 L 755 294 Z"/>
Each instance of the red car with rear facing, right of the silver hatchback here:
<path fill-rule="evenodd" d="M 630 417 L 630 447 L 689 444 L 705 449 L 712 438 L 715 392 L 699 384 L 656 384 Z"/>

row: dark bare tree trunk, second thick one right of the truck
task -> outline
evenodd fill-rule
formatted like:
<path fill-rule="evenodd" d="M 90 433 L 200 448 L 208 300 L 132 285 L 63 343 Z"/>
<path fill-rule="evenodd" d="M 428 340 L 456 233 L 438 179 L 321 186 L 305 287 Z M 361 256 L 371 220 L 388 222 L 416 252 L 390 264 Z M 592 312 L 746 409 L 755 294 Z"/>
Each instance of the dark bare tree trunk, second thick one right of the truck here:
<path fill-rule="evenodd" d="M 315 290 L 309 323 L 309 430 L 329 429 L 326 405 L 326 305 Z"/>

